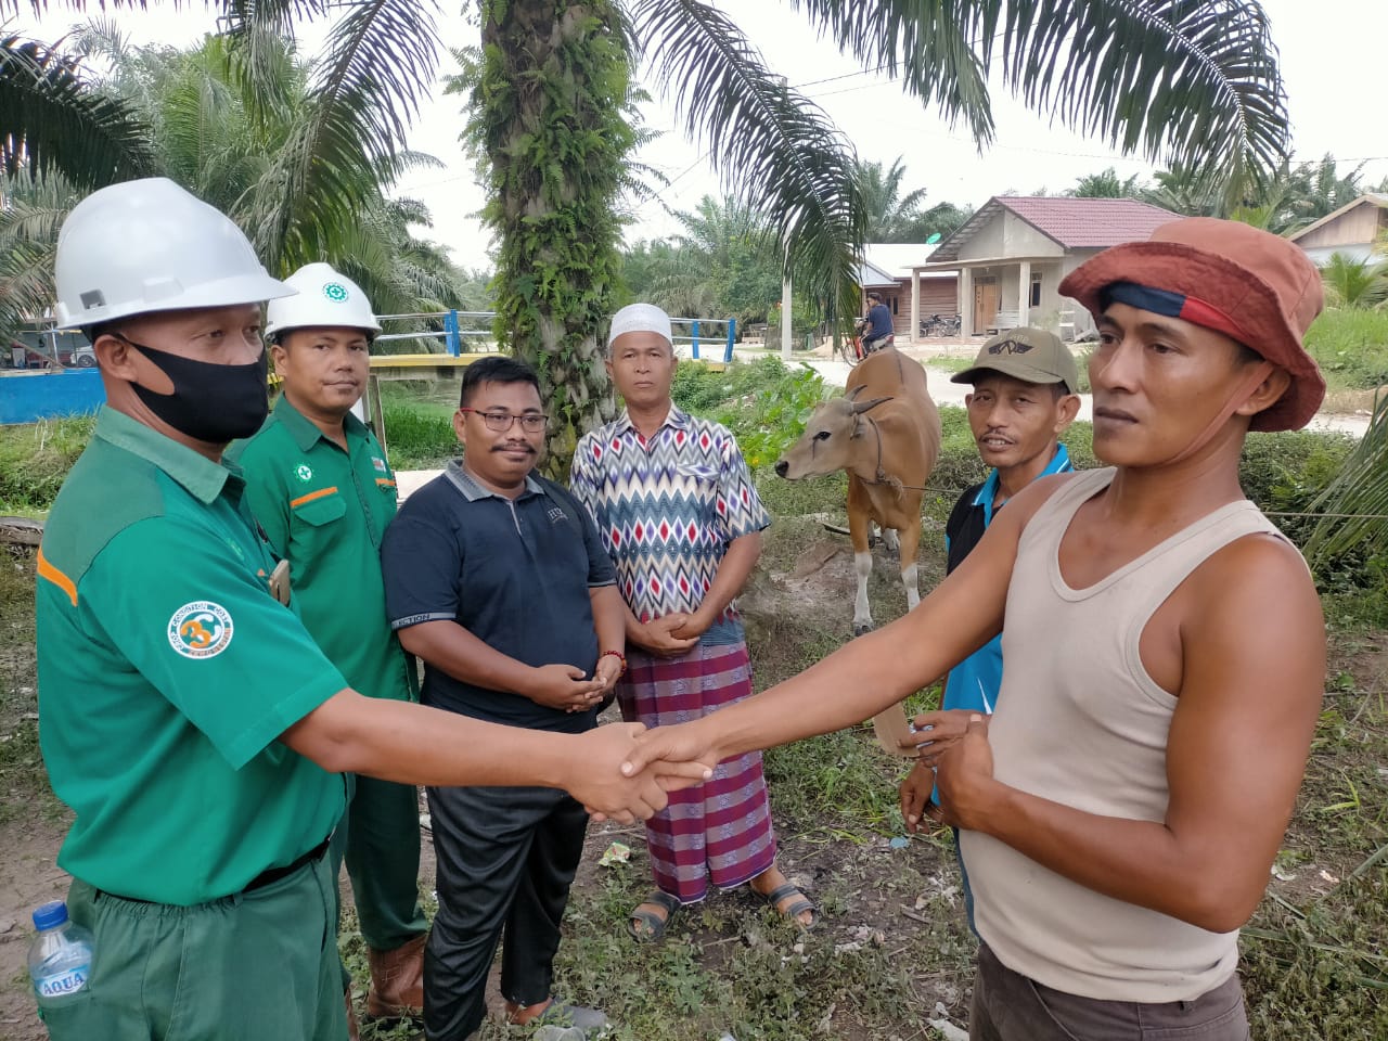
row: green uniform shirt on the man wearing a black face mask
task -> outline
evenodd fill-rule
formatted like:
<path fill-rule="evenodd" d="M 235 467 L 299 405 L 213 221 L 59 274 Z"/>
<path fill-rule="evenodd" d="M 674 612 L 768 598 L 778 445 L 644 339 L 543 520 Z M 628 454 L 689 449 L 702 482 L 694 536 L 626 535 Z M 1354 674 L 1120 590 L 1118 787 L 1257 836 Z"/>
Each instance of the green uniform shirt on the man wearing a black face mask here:
<path fill-rule="evenodd" d="M 343 780 L 276 738 L 347 686 L 269 594 L 244 483 L 111 408 L 39 551 L 39 737 L 75 820 L 58 863 L 193 905 L 333 829 Z"/>

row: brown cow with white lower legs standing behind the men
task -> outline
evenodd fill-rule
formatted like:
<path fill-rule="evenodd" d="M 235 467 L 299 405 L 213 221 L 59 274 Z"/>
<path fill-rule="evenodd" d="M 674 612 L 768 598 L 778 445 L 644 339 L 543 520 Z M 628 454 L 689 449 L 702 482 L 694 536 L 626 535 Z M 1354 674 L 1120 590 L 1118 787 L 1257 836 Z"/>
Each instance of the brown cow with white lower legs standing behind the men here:
<path fill-rule="evenodd" d="M 804 436 L 776 464 L 776 473 L 790 480 L 848 471 L 848 536 L 858 572 L 854 636 L 872 629 L 867 576 L 873 522 L 888 547 L 898 544 L 906 609 L 920 602 L 920 498 L 938 458 L 940 412 L 926 389 L 926 371 L 888 347 L 848 373 L 844 396 L 816 407 Z"/>

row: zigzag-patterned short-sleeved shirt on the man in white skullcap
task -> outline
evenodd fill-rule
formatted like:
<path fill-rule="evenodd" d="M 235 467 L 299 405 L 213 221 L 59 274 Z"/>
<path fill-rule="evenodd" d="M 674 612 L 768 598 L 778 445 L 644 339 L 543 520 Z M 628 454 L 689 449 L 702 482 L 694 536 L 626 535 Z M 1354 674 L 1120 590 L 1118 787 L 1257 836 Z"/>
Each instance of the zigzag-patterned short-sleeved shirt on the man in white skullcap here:
<path fill-rule="evenodd" d="M 618 587 L 641 622 L 695 611 L 729 544 L 772 522 L 727 428 L 675 405 L 650 440 L 626 412 L 584 434 L 570 487 L 593 514 Z M 741 640 L 731 604 L 702 637 L 706 645 Z"/>

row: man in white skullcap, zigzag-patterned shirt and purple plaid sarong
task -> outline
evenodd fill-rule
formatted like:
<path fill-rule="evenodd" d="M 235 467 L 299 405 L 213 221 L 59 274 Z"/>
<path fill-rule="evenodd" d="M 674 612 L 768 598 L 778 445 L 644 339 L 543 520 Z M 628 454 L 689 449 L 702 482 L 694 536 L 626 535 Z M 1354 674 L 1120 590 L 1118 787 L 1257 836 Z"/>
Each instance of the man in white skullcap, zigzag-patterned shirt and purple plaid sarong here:
<path fill-rule="evenodd" d="M 752 693 L 734 597 L 770 525 L 733 434 L 670 400 L 675 365 L 665 311 L 630 304 L 612 316 L 607 368 L 626 411 L 579 441 L 570 475 L 626 601 L 622 715 L 647 726 L 700 719 Z M 627 922 L 637 942 L 659 940 L 675 911 L 709 887 L 744 883 L 801 927 L 813 924 L 815 908 L 776 866 L 761 752 L 731 756 L 705 784 L 673 794 L 645 836 L 655 888 Z"/>

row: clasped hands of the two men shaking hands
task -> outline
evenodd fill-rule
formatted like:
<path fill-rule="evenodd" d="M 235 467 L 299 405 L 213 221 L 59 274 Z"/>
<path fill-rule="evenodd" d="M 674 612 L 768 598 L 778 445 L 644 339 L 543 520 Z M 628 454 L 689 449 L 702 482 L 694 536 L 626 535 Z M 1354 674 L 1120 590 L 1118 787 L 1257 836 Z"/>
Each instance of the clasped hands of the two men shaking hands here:
<path fill-rule="evenodd" d="M 695 723 L 611 723 L 566 744 L 564 787 L 595 820 L 623 824 L 665 809 L 668 793 L 709 780 L 723 758 Z"/>

